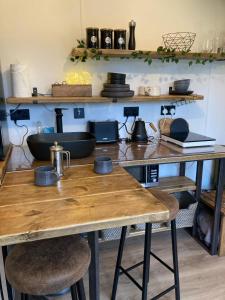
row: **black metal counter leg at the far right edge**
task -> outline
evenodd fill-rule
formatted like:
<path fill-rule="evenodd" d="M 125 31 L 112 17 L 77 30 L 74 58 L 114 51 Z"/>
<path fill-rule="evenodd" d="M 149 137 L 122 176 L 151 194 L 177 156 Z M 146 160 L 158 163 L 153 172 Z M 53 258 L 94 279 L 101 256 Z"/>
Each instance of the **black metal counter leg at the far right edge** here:
<path fill-rule="evenodd" d="M 213 232 L 211 239 L 211 255 L 216 255 L 218 252 L 218 241 L 220 234 L 220 213 L 222 206 L 222 197 L 223 197 L 223 185 L 225 178 L 225 159 L 219 159 L 217 182 L 216 182 L 216 198 L 215 198 L 215 209 L 214 209 L 214 223 L 213 223 Z"/>

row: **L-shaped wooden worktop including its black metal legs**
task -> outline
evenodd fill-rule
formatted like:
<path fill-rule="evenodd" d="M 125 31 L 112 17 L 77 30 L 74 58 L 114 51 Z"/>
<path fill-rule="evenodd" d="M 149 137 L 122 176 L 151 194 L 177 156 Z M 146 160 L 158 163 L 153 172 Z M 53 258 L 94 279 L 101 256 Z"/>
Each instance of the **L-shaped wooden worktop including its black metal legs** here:
<path fill-rule="evenodd" d="M 17 152 L 13 152 L 8 168 L 11 170 L 30 169 L 48 163 L 33 161 L 29 152 L 27 155 L 31 162 L 27 161 L 22 151 L 17 149 Z M 91 156 L 72 160 L 72 165 L 76 165 L 76 167 L 67 172 L 64 180 L 57 188 L 43 188 L 43 191 L 33 186 L 31 171 L 8 173 L 3 187 L 0 189 L 0 245 L 89 231 L 89 242 L 93 254 L 90 273 L 91 276 L 97 278 L 95 284 L 90 287 L 93 291 L 98 286 L 98 268 L 94 269 L 93 267 L 94 263 L 98 266 L 97 230 L 144 223 L 150 220 L 154 222 L 156 221 L 155 217 L 166 217 L 166 211 L 163 210 L 165 208 L 161 207 L 160 209 L 155 202 L 156 199 L 153 199 L 149 192 L 143 190 L 119 166 L 114 169 L 114 173 L 111 175 L 97 176 L 93 174 L 91 164 L 95 157 L 102 155 L 110 156 L 114 162 L 124 167 L 179 163 L 180 176 L 183 178 L 185 178 L 186 162 L 197 161 L 194 189 L 190 180 L 187 182 L 188 187 L 195 190 L 197 200 L 200 199 L 201 195 L 203 162 L 205 160 L 218 161 L 215 217 L 210 249 L 212 255 L 217 254 L 225 177 L 225 147 L 216 146 L 214 150 L 207 153 L 194 153 L 191 150 L 188 153 L 182 153 L 167 147 L 165 143 L 97 145 Z M 126 179 L 126 182 L 121 178 Z M 4 201 L 7 205 L 2 204 L 2 195 L 6 197 Z M 115 201 L 117 201 L 116 203 L 119 201 L 120 205 L 115 204 Z M 86 206 L 84 203 L 88 203 L 88 205 Z M 136 207 L 137 203 L 138 206 Z M 142 203 L 143 206 L 139 206 Z M 156 207 L 159 208 L 157 213 L 152 212 L 150 203 L 154 203 L 153 206 L 157 204 Z M 121 209 L 121 205 L 124 207 L 124 211 Z M 100 207 L 104 213 L 99 210 Z M 109 215 L 106 215 L 105 211 L 109 211 Z M 66 217 L 62 217 L 59 212 L 63 212 L 63 216 Z M 82 218 L 82 215 L 85 217 Z M 46 221 L 48 222 L 46 223 Z M 5 225 L 2 227 L 2 224 Z M 27 228 L 27 225 L 30 227 Z M 98 289 L 96 292 L 98 293 Z M 92 299 L 98 299 L 97 295 L 93 296 Z"/>

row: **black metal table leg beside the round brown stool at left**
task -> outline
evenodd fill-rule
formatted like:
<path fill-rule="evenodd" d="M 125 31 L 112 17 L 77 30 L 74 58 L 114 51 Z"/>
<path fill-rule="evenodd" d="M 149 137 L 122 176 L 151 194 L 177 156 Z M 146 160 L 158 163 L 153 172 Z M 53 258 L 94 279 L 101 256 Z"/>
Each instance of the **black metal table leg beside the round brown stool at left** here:
<path fill-rule="evenodd" d="M 91 248 L 91 263 L 89 267 L 89 298 L 91 300 L 99 300 L 100 288 L 98 231 L 88 233 L 88 243 Z"/>

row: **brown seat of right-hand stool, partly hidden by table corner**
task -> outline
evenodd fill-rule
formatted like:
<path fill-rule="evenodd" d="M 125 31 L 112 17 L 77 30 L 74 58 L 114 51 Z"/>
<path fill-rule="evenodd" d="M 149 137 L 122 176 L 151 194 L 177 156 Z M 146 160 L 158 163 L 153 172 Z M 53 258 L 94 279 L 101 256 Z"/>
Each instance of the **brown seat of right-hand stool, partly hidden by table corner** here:
<path fill-rule="evenodd" d="M 150 189 L 150 192 L 168 208 L 169 219 L 165 220 L 165 222 L 174 220 L 179 211 L 179 202 L 177 199 L 174 196 L 157 189 Z"/>

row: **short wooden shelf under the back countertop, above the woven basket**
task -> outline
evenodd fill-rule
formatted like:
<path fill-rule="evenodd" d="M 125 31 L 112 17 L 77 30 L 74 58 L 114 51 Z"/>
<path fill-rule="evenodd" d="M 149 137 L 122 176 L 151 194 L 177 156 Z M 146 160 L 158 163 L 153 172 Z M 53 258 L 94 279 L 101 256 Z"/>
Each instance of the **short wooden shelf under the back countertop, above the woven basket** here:
<path fill-rule="evenodd" d="M 154 187 L 167 193 L 195 191 L 195 182 L 185 176 L 162 177 L 159 179 L 159 185 Z"/>

